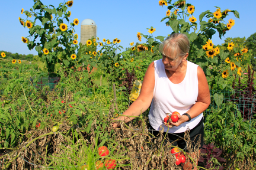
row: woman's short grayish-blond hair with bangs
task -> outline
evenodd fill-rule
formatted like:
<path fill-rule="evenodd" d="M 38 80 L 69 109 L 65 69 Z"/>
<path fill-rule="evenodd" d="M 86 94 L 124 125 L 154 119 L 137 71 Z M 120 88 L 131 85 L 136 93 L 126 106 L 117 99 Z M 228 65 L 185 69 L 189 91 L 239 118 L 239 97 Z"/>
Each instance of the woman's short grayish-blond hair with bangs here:
<path fill-rule="evenodd" d="M 189 49 L 190 41 L 187 35 L 181 33 L 169 35 L 169 37 L 159 45 L 159 51 L 161 51 L 163 55 L 165 55 L 165 53 L 176 54 L 175 59 L 183 57 L 188 53 Z"/>

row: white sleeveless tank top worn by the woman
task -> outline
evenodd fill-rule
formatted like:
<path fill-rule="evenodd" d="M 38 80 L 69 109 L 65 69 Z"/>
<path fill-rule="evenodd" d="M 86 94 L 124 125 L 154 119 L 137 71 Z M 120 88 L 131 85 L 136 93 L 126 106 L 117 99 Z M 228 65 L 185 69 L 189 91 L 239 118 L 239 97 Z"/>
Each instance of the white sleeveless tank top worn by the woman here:
<path fill-rule="evenodd" d="M 179 112 L 180 115 L 186 113 L 197 101 L 199 93 L 197 79 L 197 64 L 187 61 L 187 71 L 185 78 L 181 83 L 174 84 L 168 79 L 165 73 L 162 59 L 154 61 L 155 63 L 155 88 L 153 91 L 153 100 L 149 110 L 149 123 L 155 130 L 161 130 L 160 126 L 167 132 L 168 128 L 164 125 L 165 113 Z M 169 128 L 169 133 L 185 132 L 187 128 L 193 129 L 203 117 L 203 113 L 191 119 L 190 122 L 184 122 L 180 126 Z"/>

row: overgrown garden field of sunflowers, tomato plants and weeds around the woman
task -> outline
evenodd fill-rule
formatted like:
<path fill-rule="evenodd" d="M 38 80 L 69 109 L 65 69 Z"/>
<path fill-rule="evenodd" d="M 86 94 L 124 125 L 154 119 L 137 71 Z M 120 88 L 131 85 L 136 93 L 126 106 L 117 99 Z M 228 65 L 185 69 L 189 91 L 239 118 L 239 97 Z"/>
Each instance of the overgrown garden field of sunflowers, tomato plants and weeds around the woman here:
<path fill-rule="evenodd" d="M 21 27 L 28 29 L 22 40 L 36 48 L 43 63 L 9 60 L 1 52 L 0 169 L 183 169 L 174 148 L 193 168 L 255 169 L 253 51 L 235 40 L 222 45 L 211 40 L 214 34 L 228 34 L 235 25 L 225 18 L 239 18 L 239 12 L 216 8 L 193 18 L 195 6 L 188 3 L 159 1 L 158 7 L 167 8 L 165 27 L 187 35 L 187 60 L 203 68 L 209 84 L 211 103 L 203 114 L 200 153 L 188 132 L 179 140 L 194 156 L 162 132 L 153 136 L 149 109 L 131 116 L 135 119 L 129 123 L 120 122 L 120 128 L 112 126 L 134 101 L 133 83 L 143 81 L 149 64 L 162 58 L 159 45 L 166 37 L 148 28 L 149 35 L 137 32 L 137 40 L 146 43 L 131 42 L 120 53 L 117 38 L 92 37 L 78 44 L 78 34 L 72 32 L 77 21 L 68 20 L 75 2 L 54 7 L 34 0 L 31 11 L 22 11 Z"/>

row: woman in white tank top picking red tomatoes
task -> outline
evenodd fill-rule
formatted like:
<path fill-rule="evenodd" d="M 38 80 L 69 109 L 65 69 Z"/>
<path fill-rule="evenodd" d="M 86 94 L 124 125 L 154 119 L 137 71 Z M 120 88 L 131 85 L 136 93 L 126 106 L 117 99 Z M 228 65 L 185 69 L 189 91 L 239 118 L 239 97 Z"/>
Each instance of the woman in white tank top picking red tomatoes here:
<path fill-rule="evenodd" d="M 179 119 L 175 123 L 171 122 L 171 126 L 168 125 L 168 132 L 183 137 L 185 130 L 189 128 L 191 140 L 201 134 L 202 146 L 203 112 L 210 105 L 210 93 L 203 70 L 186 60 L 189 48 L 187 35 L 175 33 L 167 37 L 159 46 L 162 59 L 153 61 L 146 71 L 140 96 L 123 113 L 123 116 L 116 120 L 129 122 L 134 118 L 124 115 L 139 116 L 151 106 L 149 123 L 153 129 L 160 130 L 161 125 L 164 125 L 166 113 L 176 111 L 180 113 Z M 119 123 L 113 124 L 113 127 L 117 126 Z M 162 127 L 164 132 L 167 132 L 167 125 Z M 168 136 L 171 140 L 175 140 L 173 136 Z M 185 148 L 184 143 L 178 141 L 177 144 L 180 148 Z M 190 168 L 184 165 L 184 169 Z"/>

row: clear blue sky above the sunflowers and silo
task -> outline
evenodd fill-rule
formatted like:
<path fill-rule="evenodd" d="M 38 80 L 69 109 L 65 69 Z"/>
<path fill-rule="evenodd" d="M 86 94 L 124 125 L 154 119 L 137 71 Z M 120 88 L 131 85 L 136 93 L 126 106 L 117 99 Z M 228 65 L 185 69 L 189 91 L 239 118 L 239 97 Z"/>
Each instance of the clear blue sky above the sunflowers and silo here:
<path fill-rule="evenodd" d="M 57 8 L 61 2 L 58 0 L 41 0 L 44 5 L 53 5 Z M 172 1 L 172 3 L 175 1 Z M 220 9 L 236 10 L 240 14 L 240 19 L 235 18 L 232 13 L 226 17 L 228 19 L 235 19 L 235 25 L 225 34 L 225 37 L 220 40 L 218 34 L 215 34 L 212 38 L 214 44 L 222 44 L 227 37 L 245 37 L 248 38 L 251 34 L 256 32 L 255 16 L 255 0 L 238 1 L 238 0 L 187 0 L 189 4 L 195 6 L 196 11 L 193 16 L 199 20 L 201 12 L 210 10 L 215 12 L 215 6 L 219 6 Z M 37 54 L 36 50 L 28 50 L 26 44 L 21 41 L 21 37 L 27 37 L 28 28 L 23 28 L 18 21 L 18 17 L 26 18 L 25 14 L 21 15 L 21 8 L 29 10 L 34 5 L 33 0 L 11 0 L 4 1 L 0 6 L 0 50 L 9 51 L 11 53 L 19 54 Z M 130 42 L 139 42 L 137 40 L 137 32 L 149 35 L 146 28 L 156 28 L 153 32 L 153 36 L 158 35 L 167 36 L 171 34 L 171 27 L 167 27 L 165 22 L 160 22 L 165 17 L 167 12 L 167 6 L 159 6 L 158 0 L 130 0 L 130 1 L 85 1 L 74 0 L 73 6 L 68 8 L 71 11 L 70 21 L 73 19 L 79 19 L 79 25 L 75 26 L 75 33 L 79 35 L 81 22 L 84 19 L 92 19 L 95 21 L 98 27 L 98 37 L 102 42 L 103 38 L 113 40 L 118 38 L 121 40 L 120 45 L 124 48 L 130 47 Z M 31 18 L 32 19 L 32 18 Z M 67 23 L 68 24 L 68 23 Z M 199 22 L 197 22 L 199 24 Z M 145 42 L 145 38 L 142 38 L 142 42 Z"/>

